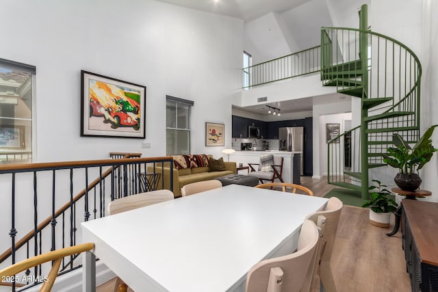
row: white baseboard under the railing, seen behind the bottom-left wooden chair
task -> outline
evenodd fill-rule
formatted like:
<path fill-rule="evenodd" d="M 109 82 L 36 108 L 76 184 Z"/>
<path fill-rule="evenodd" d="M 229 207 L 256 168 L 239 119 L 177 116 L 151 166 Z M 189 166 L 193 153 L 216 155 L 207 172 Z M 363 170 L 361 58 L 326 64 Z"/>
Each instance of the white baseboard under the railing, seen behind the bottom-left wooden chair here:
<path fill-rule="evenodd" d="M 107 282 L 114 278 L 113 273 L 102 261 L 96 262 L 96 286 Z M 40 291 L 40 285 L 27 289 L 26 291 Z M 67 274 L 58 276 L 53 284 L 52 291 L 58 292 L 82 292 L 82 268 L 70 271 Z"/>

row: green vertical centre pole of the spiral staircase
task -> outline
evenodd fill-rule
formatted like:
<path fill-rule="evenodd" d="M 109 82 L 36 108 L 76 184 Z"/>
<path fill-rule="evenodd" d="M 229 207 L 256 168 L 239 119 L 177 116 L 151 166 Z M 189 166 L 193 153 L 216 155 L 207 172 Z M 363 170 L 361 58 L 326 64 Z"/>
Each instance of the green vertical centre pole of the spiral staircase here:
<path fill-rule="evenodd" d="M 361 6 L 359 11 L 359 52 L 362 65 L 362 102 L 368 98 L 368 5 Z M 368 125 L 365 118 L 368 116 L 368 109 L 361 107 L 361 194 L 363 199 L 368 199 Z"/>

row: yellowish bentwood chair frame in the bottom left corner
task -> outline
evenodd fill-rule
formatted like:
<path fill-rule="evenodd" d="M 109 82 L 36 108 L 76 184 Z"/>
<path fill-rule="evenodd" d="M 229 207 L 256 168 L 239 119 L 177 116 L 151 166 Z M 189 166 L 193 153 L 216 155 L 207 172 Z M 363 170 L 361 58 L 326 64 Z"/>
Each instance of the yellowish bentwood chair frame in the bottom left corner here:
<path fill-rule="evenodd" d="M 55 283 L 57 273 L 60 269 L 62 259 L 65 256 L 71 256 L 73 254 L 80 254 L 81 252 L 88 252 L 94 248 L 94 243 L 82 243 L 78 245 L 73 245 L 68 248 L 62 248 L 60 250 L 53 250 L 51 252 L 46 252 L 45 254 L 40 254 L 31 258 L 27 258 L 24 261 L 15 263 L 5 269 L 0 271 L 0 278 L 3 279 L 8 276 L 14 276 L 21 271 L 31 269 L 43 263 L 48 263 L 53 261 L 51 270 L 47 274 L 47 281 L 45 281 L 40 289 L 40 292 L 50 292 Z"/>

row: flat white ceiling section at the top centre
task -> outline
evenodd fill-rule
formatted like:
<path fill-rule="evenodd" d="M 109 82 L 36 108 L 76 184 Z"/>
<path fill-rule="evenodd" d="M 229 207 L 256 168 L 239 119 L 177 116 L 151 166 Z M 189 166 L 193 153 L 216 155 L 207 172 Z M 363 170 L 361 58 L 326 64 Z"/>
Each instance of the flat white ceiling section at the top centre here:
<path fill-rule="evenodd" d="M 250 21 L 268 12 L 284 12 L 309 0 L 157 0 Z"/>

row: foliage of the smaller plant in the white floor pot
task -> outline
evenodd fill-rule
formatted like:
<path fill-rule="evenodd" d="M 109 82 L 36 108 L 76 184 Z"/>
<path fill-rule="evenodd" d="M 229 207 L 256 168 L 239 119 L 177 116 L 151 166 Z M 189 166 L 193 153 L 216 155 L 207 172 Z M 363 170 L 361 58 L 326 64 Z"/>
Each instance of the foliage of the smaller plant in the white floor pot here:
<path fill-rule="evenodd" d="M 382 185 L 380 181 L 372 180 L 377 185 L 372 185 L 368 189 L 374 191 L 370 194 L 370 200 L 363 202 L 362 207 L 370 208 L 376 213 L 392 213 L 396 211 L 398 204 L 395 200 L 388 198 L 392 195 L 391 191 L 385 189 L 387 185 Z"/>

